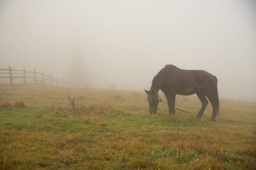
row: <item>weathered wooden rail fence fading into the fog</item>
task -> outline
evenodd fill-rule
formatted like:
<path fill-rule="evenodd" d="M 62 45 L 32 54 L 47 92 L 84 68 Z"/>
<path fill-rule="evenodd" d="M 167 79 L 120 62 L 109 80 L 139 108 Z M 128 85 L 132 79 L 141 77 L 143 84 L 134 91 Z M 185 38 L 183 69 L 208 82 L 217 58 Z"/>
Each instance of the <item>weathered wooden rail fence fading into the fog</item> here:
<path fill-rule="evenodd" d="M 3 75 L 3 76 L 2 76 Z M 56 83 L 56 86 L 59 84 L 67 84 L 67 82 L 64 80 L 64 78 L 59 79 L 52 77 L 51 74 L 44 74 L 44 73 L 36 73 L 36 70 L 34 71 L 26 71 L 26 69 L 23 70 L 13 70 L 11 69 L 11 66 L 9 66 L 9 69 L 0 69 L 0 79 L 10 79 L 11 86 L 14 84 L 14 79 L 23 79 L 23 83 L 26 84 L 27 80 L 32 79 L 32 82 L 34 83 L 49 83 L 53 84 Z"/>

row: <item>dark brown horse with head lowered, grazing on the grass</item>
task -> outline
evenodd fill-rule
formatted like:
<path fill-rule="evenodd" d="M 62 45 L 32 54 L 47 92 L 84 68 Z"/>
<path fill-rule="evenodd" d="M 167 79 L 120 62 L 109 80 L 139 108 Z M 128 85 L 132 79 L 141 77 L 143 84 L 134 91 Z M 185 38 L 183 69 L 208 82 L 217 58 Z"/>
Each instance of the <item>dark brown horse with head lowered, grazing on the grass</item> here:
<path fill-rule="evenodd" d="M 166 96 L 169 113 L 171 114 L 175 114 L 176 95 L 196 94 L 202 103 L 202 107 L 197 114 L 197 118 L 201 118 L 209 103 L 208 98 L 213 108 L 210 121 L 215 121 L 220 105 L 216 76 L 203 70 L 182 70 L 174 65 L 166 65 L 154 76 L 150 91 L 145 90 L 148 95 L 147 100 L 150 106 L 150 113 L 156 113 L 158 109 L 159 90 Z"/>

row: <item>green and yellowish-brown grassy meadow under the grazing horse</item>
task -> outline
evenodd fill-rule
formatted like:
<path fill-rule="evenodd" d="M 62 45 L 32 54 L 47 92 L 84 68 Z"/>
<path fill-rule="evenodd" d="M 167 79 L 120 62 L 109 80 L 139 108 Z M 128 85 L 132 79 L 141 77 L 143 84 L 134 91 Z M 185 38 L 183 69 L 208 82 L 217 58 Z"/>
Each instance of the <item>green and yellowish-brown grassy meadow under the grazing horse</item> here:
<path fill-rule="evenodd" d="M 143 91 L 0 85 L 0 169 L 256 169 L 255 103 L 220 99 L 217 118 L 239 122 L 158 109 Z"/>

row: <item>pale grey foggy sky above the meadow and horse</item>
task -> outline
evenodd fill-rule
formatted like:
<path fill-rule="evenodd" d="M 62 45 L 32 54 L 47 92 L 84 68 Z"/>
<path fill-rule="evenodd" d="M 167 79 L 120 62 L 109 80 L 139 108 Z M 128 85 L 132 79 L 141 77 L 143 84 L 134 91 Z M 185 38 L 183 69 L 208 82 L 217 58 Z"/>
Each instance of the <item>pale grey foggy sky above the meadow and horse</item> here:
<path fill-rule="evenodd" d="M 0 69 L 148 90 L 172 64 L 216 75 L 220 98 L 253 101 L 255 30 L 253 0 L 0 0 Z"/>

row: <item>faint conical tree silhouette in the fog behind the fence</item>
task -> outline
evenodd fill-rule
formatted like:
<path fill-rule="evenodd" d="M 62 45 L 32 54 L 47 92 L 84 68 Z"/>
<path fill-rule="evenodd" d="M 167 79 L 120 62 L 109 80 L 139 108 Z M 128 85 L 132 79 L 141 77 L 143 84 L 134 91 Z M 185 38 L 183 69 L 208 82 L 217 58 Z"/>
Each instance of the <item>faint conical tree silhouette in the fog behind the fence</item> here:
<path fill-rule="evenodd" d="M 88 69 L 84 61 L 85 57 L 80 49 L 74 49 L 69 66 L 68 84 L 70 86 L 88 85 Z"/>

